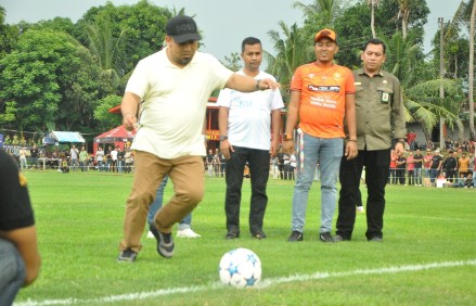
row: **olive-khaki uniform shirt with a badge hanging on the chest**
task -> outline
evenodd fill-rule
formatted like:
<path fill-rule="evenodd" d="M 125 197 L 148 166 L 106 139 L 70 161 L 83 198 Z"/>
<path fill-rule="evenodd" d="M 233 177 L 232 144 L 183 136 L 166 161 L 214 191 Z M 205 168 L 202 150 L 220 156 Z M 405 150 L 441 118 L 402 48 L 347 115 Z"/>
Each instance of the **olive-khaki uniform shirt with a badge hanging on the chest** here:
<path fill-rule="evenodd" d="M 387 72 L 370 77 L 362 68 L 353 72 L 353 78 L 358 149 L 390 149 L 394 138 L 407 135 L 400 81 Z"/>

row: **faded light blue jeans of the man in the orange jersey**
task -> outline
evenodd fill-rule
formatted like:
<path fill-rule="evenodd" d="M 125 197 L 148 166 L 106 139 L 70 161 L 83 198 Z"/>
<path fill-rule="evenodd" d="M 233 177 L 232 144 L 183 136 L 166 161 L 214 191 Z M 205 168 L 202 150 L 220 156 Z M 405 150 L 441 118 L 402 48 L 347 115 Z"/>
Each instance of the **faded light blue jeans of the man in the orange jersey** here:
<path fill-rule="evenodd" d="M 300 152 L 303 146 L 303 152 Z M 309 189 L 314 178 L 316 164 L 319 160 L 321 170 L 321 228 L 320 232 L 331 232 L 337 202 L 337 179 L 340 158 L 344 154 L 342 138 L 317 138 L 304 133 L 304 144 L 298 144 L 297 180 L 293 193 L 292 230 L 304 231 Z M 304 167 L 300 154 L 304 153 Z"/>

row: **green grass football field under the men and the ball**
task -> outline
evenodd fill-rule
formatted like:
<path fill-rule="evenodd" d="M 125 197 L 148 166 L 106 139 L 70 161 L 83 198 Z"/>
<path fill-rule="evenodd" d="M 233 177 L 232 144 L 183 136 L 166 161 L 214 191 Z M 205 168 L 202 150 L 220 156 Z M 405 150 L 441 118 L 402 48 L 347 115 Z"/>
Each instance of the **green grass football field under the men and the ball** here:
<path fill-rule="evenodd" d="M 117 263 L 131 175 L 27 171 L 42 268 L 18 305 L 474 305 L 476 189 L 387 187 L 384 242 L 365 241 L 358 215 L 350 242 L 319 241 L 319 183 L 312 186 L 305 241 L 286 242 L 294 182 L 270 179 L 268 239 L 248 234 L 249 180 L 242 235 L 227 241 L 224 180 L 207 178 L 193 213 L 201 239 L 176 238 L 160 257 L 146 239 L 134 264 Z M 171 194 L 167 186 L 166 199 Z M 362 189 L 363 196 L 366 190 Z M 335 224 L 335 222 L 334 222 Z M 262 263 L 261 285 L 220 284 L 218 264 L 235 247 Z"/>

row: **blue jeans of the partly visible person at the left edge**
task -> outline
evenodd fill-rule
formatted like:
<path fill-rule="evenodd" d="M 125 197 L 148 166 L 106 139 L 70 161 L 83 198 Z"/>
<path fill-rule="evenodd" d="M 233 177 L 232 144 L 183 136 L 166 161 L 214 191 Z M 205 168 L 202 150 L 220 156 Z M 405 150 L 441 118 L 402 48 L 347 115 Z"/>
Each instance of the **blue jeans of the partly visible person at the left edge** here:
<path fill-rule="evenodd" d="M 0 305 L 12 305 L 25 283 L 25 263 L 15 245 L 0 238 Z"/>

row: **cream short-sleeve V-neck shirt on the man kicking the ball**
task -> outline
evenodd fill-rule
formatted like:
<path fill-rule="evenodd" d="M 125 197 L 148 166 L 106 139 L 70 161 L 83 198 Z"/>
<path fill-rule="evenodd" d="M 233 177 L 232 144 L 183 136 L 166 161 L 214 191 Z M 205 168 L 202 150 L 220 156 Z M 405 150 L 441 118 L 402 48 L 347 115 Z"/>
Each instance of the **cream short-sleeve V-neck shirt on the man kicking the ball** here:
<path fill-rule="evenodd" d="M 204 156 L 202 130 L 208 98 L 224 87 L 233 72 L 202 52 L 181 68 L 166 52 L 167 48 L 141 60 L 127 84 L 126 92 L 143 101 L 131 148 L 167 160 Z"/>

